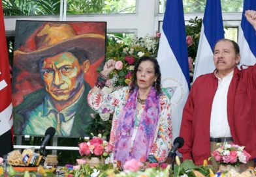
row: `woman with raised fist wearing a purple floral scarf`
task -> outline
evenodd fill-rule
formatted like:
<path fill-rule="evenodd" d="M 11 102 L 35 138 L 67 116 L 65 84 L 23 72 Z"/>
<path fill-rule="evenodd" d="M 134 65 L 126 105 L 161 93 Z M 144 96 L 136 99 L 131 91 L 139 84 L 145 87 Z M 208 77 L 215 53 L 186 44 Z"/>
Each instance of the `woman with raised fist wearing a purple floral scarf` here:
<path fill-rule="evenodd" d="M 163 162 L 172 148 L 170 99 L 161 90 L 161 72 L 156 59 L 142 57 L 136 63 L 131 87 L 110 94 L 101 92 L 116 61 L 105 63 L 88 104 L 98 113 L 112 113 L 110 144 L 114 160 Z"/>

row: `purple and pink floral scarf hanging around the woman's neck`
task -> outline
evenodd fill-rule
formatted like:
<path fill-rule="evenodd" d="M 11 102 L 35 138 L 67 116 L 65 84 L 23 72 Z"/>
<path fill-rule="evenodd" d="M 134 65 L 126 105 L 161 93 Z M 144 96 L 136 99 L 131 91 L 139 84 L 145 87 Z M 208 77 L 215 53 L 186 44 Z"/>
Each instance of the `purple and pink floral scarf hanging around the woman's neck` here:
<path fill-rule="evenodd" d="M 121 161 L 122 165 L 125 161 L 133 158 L 138 161 L 146 161 L 148 154 L 152 150 L 155 131 L 157 131 L 160 113 L 159 96 L 157 96 L 155 88 L 152 87 L 141 114 L 133 148 L 131 148 L 131 137 L 135 127 L 137 96 L 138 88 L 135 88 L 129 94 L 127 103 L 125 103 L 117 122 L 114 159 Z"/>

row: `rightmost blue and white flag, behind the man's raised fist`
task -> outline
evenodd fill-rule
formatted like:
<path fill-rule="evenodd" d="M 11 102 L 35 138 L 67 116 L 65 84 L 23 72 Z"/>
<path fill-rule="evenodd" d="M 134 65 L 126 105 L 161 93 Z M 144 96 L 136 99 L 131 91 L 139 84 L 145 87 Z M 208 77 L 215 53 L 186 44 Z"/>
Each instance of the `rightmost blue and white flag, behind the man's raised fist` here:
<path fill-rule="evenodd" d="M 239 27 L 238 45 L 240 47 L 240 66 L 253 65 L 256 62 L 256 34 L 253 26 L 244 16 L 246 10 L 256 10 L 256 0 L 244 0 L 242 21 Z"/>

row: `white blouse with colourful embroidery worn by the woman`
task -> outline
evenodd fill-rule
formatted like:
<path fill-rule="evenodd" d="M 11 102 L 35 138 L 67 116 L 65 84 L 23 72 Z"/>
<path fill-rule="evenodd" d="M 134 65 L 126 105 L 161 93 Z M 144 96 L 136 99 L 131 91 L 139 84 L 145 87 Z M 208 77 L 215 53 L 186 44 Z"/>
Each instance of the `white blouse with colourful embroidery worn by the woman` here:
<path fill-rule="evenodd" d="M 129 87 L 123 87 L 115 92 L 106 94 L 103 92 L 88 94 L 89 106 L 98 113 L 113 114 L 112 129 L 110 133 L 110 144 L 114 146 L 117 128 L 117 119 L 123 110 L 127 98 L 129 97 Z M 160 96 L 160 115 L 157 124 L 158 131 L 155 132 L 154 143 L 150 155 L 153 155 L 159 162 L 165 161 L 170 148 L 172 148 L 172 120 L 170 116 L 170 100 L 162 94 Z M 137 116 L 140 116 L 139 113 Z M 138 118 L 139 120 L 140 118 Z"/>

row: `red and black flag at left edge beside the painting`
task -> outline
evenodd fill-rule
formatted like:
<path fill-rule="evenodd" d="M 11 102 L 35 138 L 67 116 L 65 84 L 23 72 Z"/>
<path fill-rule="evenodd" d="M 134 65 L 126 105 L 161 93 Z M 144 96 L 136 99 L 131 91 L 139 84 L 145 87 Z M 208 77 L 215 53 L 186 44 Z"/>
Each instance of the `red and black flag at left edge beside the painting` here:
<path fill-rule="evenodd" d="M 0 157 L 2 157 L 13 150 L 11 136 L 12 92 L 2 1 L 0 1 L 0 38 Z"/>

